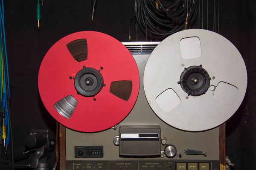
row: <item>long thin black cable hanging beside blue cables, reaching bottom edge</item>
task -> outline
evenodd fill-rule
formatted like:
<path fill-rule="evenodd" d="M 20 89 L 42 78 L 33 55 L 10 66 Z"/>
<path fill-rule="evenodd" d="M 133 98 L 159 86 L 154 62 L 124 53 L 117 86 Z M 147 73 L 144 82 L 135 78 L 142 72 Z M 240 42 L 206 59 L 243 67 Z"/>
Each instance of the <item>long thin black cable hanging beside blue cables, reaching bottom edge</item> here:
<path fill-rule="evenodd" d="M 4 51 L 5 52 L 5 51 Z M 6 57 L 3 57 L 3 64 L 5 65 L 5 72 L 7 73 L 7 68 L 6 68 Z M 13 155 L 13 138 L 12 138 L 12 122 L 11 122 L 11 111 L 10 111 L 10 104 L 9 104 L 9 89 L 8 89 L 8 81 L 7 81 L 7 76 L 5 77 L 6 78 L 6 91 L 7 91 L 7 107 L 8 107 L 8 115 L 9 115 L 9 127 L 10 127 L 10 137 L 11 137 L 11 145 L 12 145 L 12 170 L 14 170 L 14 155 Z"/>

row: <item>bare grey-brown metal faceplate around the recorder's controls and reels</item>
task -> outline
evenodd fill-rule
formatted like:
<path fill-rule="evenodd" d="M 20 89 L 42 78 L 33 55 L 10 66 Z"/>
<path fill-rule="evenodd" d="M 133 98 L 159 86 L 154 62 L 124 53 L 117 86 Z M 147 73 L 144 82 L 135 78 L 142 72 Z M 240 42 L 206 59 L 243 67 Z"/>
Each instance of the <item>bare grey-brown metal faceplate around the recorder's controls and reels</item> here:
<path fill-rule="evenodd" d="M 128 116 L 116 125 L 114 128 L 98 132 L 98 133 L 80 133 L 74 130 L 66 128 L 66 160 L 67 161 L 137 161 L 136 158 L 123 158 L 119 157 L 119 146 L 113 143 L 113 139 L 116 135 L 119 135 L 119 126 L 121 125 L 158 125 L 161 128 L 161 136 L 166 137 L 166 144 L 172 144 L 176 147 L 177 153 L 181 154 L 181 158 L 175 156 L 174 158 L 157 157 L 157 158 L 143 158 L 146 160 L 154 161 L 183 161 L 183 160 L 201 160 L 201 161 L 218 161 L 219 160 L 219 128 L 216 127 L 212 130 L 203 132 L 187 132 L 178 130 L 174 127 L 167 125 L 151 110 L 148 102 L 145 98 L 143 89 L 143 73 L 145 64 L 150 55 L 150 50 L 159 42 L 123 42 L 133 54 L 135 61 L 140 72 L 140 92 L 137 98 L 137 102 L 134 105 L 132 111 Z M 146 46 L 146 50 L 143 51 L 143 46 Z M 132 51 L 134 50 L 134 51 Z M 91 113 L 93 114 L 93 113 Z M 97 120 L 84 120 L 97 121 Z M 102 158 L 75 158 L 75 146 L 103 146 L 104 156 Z M 165 148 L 161 145 L 161 150 Z M 191 150 L 199 150 L 207 153 L 207 156 L 203 155 L 186 155 L 184 150 L 188 148 Z M 168 163 L 168 162 L 167 162 Z M 72 163 L 73 164 L 73 163 Z M 75 166 L 75 165 L 74 165 Z"/>

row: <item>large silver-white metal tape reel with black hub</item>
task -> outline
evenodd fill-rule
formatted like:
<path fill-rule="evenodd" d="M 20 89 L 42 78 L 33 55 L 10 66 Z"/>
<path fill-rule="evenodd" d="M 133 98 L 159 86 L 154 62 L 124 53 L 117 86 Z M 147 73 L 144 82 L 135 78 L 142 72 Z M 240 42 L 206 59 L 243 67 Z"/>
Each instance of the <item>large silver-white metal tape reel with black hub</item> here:
<path fill-rule="evenodd" d="M 247 71 L 229 40 L 212 31 L 189 29 L 157 45 L 143 83 L 160 119 L 181 130 L 201 131 L 221 125 L 237 111 Z"/>

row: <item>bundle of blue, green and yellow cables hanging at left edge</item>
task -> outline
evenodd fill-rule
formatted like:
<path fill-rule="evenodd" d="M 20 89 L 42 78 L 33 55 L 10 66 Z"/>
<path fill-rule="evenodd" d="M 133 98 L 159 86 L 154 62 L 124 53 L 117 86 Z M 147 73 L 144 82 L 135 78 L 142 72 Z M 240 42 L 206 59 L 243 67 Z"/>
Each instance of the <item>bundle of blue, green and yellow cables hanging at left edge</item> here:
<path fill-rule="evenodd" d="M 6 36 L 5 36 L 5 26 L 4 26 L 4 4 L 3 0 L 0 0 L 0 125 L 1 125 L 1 139 L 4 141 L 4 146 L 7 152 L 7 147 L 11 139 L 12 146 L 12 126 L 10 118 L 10 86 L 9 86 L 9 71 L 8 71 L 8 59 L 7 59 L 7 49 L 6 49 Z M 13 148 L 12 148 L 13 151 Z M 13 160 L 13 152 L 12 152 Z M 12 166 L 12 168 L 14 168 Z"/>

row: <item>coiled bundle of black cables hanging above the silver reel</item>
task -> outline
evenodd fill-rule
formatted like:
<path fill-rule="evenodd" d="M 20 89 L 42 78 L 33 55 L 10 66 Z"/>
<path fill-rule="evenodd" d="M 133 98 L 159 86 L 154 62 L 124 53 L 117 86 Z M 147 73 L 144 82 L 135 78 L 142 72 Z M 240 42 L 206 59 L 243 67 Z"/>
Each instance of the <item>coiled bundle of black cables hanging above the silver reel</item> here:
<path fill-rule="evenodd" d="M 163 40 L 193 26 L 198 0 L 134 0 L 134 13 L 146 40 Z"/>

